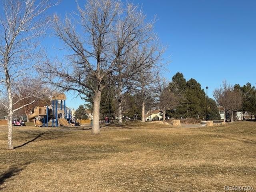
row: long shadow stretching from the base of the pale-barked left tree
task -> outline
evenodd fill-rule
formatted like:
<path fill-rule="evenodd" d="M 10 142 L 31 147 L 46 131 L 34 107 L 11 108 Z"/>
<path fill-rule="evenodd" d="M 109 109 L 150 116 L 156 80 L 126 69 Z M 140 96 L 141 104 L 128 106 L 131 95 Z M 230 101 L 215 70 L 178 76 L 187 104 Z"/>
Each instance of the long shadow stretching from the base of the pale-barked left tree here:
<path fill-rule="evenodd" d="M 25 134 L 29 134 L 29 135 L 32 135 L 32 136 L 35 136 L 35 137 L 32 140 L 28 140 L 27 142 L 25 142 L 22 145 L 14 147 L 14 149 L 23 147 L 23 146 L 25 146 L 25 145 L 27 145 L 31 142 L 34 142 L 35 140 L 36 141 L 41 141 L 41 140 L 55 139 L 55 138 L 64 136 L 67 133 L 48 130 L 48 131 L 42 132 L 40 134 L 38 134 L 38 132 L 36 132 L 36 134 L 34 134 L 33 132 L 25 132 Z M 40 138 L 40 140 L 39 140 L 39 138 Z"/>

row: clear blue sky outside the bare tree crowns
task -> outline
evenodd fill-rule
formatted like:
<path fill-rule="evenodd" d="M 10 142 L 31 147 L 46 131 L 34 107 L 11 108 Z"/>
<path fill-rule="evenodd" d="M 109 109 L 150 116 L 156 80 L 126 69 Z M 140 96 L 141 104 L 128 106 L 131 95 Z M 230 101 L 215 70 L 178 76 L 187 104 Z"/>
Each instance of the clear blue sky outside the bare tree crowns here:
<path fill-rule="evenodd" d="M 84 4 L 86 0 L 78 0 Z M 157 16 L 155 31 L 167 45 L 164 57 L 170 72 L 182 72 L 196 79 L 211 97 L 226 79 L 231 84 L 255 84 L 256 74 L 256 1 L 255 0 L 133 0 L 140 4 L 148 19 Z M 62 0 L 52 12 L 76 10 L 73 0 Z M 52 40 L 58 47 L 58 40 Z M 52 48 L 52 47 L 51 47 Z M 55 51 L 52 50 L 52 53 Z M 58 54 L 58 51 L 56 51 Z M 67 105 L 84 104 L 68 94 Z"/>

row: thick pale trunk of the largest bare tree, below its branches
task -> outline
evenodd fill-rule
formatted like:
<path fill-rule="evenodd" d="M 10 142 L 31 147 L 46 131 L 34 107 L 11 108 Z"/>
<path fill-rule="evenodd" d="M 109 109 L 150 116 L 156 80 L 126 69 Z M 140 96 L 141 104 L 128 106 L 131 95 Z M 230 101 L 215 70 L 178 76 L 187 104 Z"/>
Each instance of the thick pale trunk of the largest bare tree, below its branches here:
<path fill-rule="evenodd" d="M 94 92 L 93 98 L 93 122 L 92 122 L 92 134 L 100 134 L 100 98 L 101 92 L 97 90 Z"/>

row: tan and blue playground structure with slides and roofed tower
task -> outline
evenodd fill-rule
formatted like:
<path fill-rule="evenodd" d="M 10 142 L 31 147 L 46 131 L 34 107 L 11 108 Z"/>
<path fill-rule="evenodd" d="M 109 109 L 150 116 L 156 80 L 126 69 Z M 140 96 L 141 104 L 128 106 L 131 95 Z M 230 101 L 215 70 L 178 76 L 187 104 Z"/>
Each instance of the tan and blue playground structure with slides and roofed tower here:
<path fill-rule="evenodd" d="M 58 103 L 60 107 L 58 108 Z M 64 106 L 62 108 L 62 106 Z M 34 122 L 35 126 L 48 127 L 48 122 L 52 120 L 53 126 L 70 126 L 70 109 L 66 110 L 66 95 L 54 94 L 52 96 L 52 106 L 35 107 L 28 120 Z"/>

